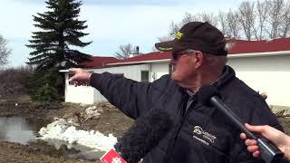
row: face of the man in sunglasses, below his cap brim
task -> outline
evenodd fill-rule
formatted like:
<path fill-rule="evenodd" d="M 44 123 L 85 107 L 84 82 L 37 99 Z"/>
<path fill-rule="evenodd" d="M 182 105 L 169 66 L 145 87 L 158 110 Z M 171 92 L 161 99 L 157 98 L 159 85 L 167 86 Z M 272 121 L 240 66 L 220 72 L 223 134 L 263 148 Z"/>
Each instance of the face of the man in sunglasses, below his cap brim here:
<path fill-rule="evenodd" d="M 170 64 L 173 66 L 171 79 L 178 82 L 181 87 L 187 87 L 196 79 L 196 54 L 193 50 L 184 50 L 172 53 Z"/>

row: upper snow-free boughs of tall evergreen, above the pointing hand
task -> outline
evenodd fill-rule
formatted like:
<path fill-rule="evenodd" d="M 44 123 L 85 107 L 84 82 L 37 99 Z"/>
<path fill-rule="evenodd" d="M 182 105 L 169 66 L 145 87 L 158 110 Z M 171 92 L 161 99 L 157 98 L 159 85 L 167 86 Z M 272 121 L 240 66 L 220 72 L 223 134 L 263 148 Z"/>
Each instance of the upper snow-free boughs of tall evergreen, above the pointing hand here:
<path fill-rule="evenodd" d="M 89 55 L 70 49 L 69 45 L 84 47 L 92 42 L 83 43 L 80 38 L 87 35 L 81 31 L 87 28 L 86 21 L 79 21 L 82 1 L 48 0 L 45 2 L 49 11 L 34 15 L 34 26 L 42 31 L 34 32 L 28 64 L 37 69 L 77 67 L 78 63 L 89 60 Z M 61 64 L 65 63 L 65 64 Z"/>

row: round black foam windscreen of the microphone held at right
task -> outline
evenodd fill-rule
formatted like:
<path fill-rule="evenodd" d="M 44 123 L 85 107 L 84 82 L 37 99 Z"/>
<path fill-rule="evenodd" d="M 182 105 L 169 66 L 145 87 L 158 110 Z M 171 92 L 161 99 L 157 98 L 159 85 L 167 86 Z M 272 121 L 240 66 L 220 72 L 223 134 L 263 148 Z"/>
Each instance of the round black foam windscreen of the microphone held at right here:
<path fill-rule="evenodd" d="M 207 106 L 210 106 L 209 100 L 213 96 L 220 97 L 217 88 L 213 85 L 205 85 L 198 90 L 198 101 Z"/>

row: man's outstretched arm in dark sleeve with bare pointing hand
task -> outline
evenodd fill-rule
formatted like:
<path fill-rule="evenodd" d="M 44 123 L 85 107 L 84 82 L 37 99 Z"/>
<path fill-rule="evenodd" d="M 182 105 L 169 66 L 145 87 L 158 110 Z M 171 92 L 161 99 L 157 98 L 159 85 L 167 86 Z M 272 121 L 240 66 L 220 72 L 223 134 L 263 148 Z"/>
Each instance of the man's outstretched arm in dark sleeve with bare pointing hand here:
<path fill-rule="evenodd" d="M 74 74 L 70 82 L 75 86 L 90 82 L 111 104 L 133 119 L 152 107 L 150 83 L 135 82 L 109 72 L 91 73 L 78 68 L 69 71 Z"/>

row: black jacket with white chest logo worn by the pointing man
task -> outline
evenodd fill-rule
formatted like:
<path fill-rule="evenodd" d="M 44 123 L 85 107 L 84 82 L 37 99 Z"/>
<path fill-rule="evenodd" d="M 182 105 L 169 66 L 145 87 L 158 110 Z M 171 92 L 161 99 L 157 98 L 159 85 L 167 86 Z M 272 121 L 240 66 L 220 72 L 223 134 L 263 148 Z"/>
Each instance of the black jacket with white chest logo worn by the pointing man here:
<path fill-rule="evenodd" d="M 215 108 L 209 108 L 195 100 L 189 110 L 188 93 L 169 75 L 151 83 L 135 82 L 109 72 L 93 73 L 92 87 L 132 119 L 137 119 L 150 109 L 167 110 L 176 126 L 160 140 L 144 158 L 144 163 L 249 163 L 263 162 L 253 158 L 240 131 Z M 237 116 L 253 125 L 269 125 L 283 130 L 269 110 L 266 101 L 237 79 L 229 66 L 214 83 L 221 100 Z"/>

